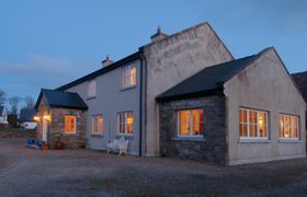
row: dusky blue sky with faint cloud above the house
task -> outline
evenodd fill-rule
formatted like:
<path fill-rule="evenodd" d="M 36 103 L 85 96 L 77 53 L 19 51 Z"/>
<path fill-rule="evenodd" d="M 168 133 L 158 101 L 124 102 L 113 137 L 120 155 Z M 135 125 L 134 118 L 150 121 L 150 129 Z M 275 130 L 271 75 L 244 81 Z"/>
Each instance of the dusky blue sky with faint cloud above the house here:
<path fill-rule="evenodd" d="M 0 1 L 0 89 L 37 97 L 150 42 L 208 21 L 236 58 L 274 46 L 291 72 L 307 70 L 304 0 Z"/>

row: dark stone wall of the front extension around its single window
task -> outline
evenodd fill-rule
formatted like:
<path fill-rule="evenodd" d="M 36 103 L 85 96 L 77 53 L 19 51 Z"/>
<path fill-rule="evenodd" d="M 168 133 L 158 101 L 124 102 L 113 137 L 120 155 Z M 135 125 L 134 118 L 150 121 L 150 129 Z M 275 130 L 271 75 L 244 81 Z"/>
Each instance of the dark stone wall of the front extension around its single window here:
<path fill-rule="evenodd" d="M 226 103 L 224 96 L 206 96 L 160 104 L 160 154 L 227 164 Z M 178 109 L 204 109 L 204 138 L 192 140 L 177 135 Z"/>

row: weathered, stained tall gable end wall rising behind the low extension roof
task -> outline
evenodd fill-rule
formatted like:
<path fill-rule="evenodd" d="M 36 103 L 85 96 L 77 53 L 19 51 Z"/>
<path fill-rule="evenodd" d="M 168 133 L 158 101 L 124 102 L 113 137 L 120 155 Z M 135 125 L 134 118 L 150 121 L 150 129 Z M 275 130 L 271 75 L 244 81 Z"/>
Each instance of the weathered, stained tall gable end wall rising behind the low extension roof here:
<path fill-rule="evenodd" d="M 232 60 L 207 23 L 179 32 L 144 47 L 147 60 L 146 155 L 159 154 L 157 95 L 205 67 Z"/>

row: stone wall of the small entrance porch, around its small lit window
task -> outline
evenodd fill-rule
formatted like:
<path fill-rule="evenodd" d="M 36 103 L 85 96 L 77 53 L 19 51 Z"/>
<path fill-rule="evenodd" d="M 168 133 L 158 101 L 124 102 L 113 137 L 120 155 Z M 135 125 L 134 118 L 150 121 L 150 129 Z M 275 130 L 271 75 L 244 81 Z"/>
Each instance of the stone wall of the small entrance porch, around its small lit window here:
<path fill-rule="evenodd" d="M 48 142 L 53 148 L 57 138 L 65 142 L 66 149 L 79 149 L 87 146 L 87 112 L 67 108 L 52 108 L 52 123 L 48 127 Z M 77 116 L 76 134 L 64 132 L 65 115 Z"/>

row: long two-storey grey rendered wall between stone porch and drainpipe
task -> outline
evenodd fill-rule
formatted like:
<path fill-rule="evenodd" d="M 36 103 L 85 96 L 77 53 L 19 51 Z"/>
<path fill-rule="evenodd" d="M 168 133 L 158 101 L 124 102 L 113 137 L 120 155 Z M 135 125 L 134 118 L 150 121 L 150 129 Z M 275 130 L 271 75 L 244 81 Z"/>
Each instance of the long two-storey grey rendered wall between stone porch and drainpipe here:
<path fill-rule="evenodd" d="M 130 62 L 136 65 L 137 81 L 133 89 L 124 90 L 122 88 L 122 67 L 102 74 L 96 80 L 96 97 L 88 100 L 88 82 L 83 82 L 73 88 L 68 89 L 68 92 L 78 92 L 82 100 L 87 103 L 88 124 L 87 137 L 88 146 L 91 149 L 105 150 L 106 142 L 113 141 L 114 138 L 120 138 L 117 113 L 133 111 L 134 112 L 134 135 L 126 137 L 129 140 L 128 151 L 130 154 L 138 154 L 139 146 L 139 77 L 140 61 Z M 127 65 L 130 65 L 127 63 Z M 127 66 L 125 65 L 125 66 Z M 124 67 L 124 66 L 123 66 Z M 92 135 L 91 117 L 95 114 L 103 114 L 104 134 L 103 136 Z"/>

